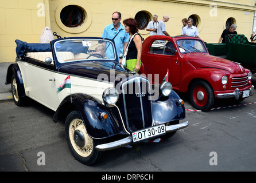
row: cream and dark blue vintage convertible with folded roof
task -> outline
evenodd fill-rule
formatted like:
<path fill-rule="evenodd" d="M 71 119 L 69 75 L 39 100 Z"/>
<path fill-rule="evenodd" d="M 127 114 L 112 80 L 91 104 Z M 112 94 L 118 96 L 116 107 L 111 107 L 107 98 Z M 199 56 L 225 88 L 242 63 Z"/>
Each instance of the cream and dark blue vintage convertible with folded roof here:
<path fill-rule="evenodd" d="M 69 149 L 83 164 L 93 164 L 104 150 L 171 137 L 189 125 L 180 124 L 185 109 L 172 85 L 152 85 L 119 65 L 111 39 L 15 42 L 16 62 L 6 75 L 15 104 L 29 97 L 54 110 L 53 121 L 64 117 Z M 106 58 L 105 49 L 114 51 L 114 58 Z"/>

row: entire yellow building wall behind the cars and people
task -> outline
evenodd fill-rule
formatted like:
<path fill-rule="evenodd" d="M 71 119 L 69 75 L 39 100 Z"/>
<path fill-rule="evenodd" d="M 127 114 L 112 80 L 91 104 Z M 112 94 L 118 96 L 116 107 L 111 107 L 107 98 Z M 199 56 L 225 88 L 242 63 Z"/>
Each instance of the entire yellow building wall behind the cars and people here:
<path fill-rule="evenodd" d="M 60 12 L 67 5 L 77 5 L 86 11 L 86 21 L 76 28 L 65 27 Z M 138 11 L 157 14 L 158 21 L 168 14 L 166 30 L 172 36 L 180 35 L 181 19 L 189 15 L 199 17 L 199 37 L 208 43 L 216 43 L 226 28 L 228 18 L 234 18 L 238 34 L 250 37 L 253 29 L 254 0 L 8 0 L 0 1 L 0 62 L 14 61 L 15 39 L 39 42 L 44 27 L 51 27 L 61 37 L 100 37 L 106 25 L 112 23 L 114 11 L 122 13 L 122 19 L 134 18 Z M 139 30 L 146 38 L 149 32 Z"/>

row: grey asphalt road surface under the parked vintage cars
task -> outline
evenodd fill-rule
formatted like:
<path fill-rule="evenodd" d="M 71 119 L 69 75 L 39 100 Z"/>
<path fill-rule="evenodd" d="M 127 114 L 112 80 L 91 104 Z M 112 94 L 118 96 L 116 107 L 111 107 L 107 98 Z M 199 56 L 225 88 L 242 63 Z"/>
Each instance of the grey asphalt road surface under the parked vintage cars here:
<path fill-rule="evenodd" d="M 256 74 L 253 74 L 256 86 Z M 188 98 L 185 108 L 193 109 Z M 188 110 L 188 128 L 172 138 L 142 142 L 104 152 L 100 161 L 86 166 L 69 152 L 64 122 L 52 121 L 53 111 L 30 101 L 23 107 L 11 100 L 0 103 L 0 171 L 2 172 L 170 172 L 255 171 L 256 94 L 234 105 L 216 102 L 208 112 Z M 181 121 L 181 122 L 183 122 Z M 44 160 L 44 161 L 43 161 Z"/>

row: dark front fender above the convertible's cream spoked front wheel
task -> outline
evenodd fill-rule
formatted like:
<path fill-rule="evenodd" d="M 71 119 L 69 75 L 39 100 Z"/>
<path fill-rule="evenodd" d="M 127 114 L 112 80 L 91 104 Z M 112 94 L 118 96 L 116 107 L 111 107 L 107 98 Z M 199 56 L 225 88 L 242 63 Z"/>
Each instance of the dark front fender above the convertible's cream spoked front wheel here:
<path fill-rule="evenodd" d="M 69 109 L 69 110 L 68 110 Z M 78 110 L 83 118 L 86 130 L 91 138 L 106 138 L 122 133 L 117 128 L 117 122 L 111 115 L 110 108 L 100 104 L 95 98 L 86 94 L 72 94 L 72 102 L 70 96 L 66 97 L 60 104 L 53 116 L 53 121 L 57 121 L 61 112 L 67 113 L 71 110 Z M 101 113 L 107 113 L 107 119 L 100 118 Z"/>

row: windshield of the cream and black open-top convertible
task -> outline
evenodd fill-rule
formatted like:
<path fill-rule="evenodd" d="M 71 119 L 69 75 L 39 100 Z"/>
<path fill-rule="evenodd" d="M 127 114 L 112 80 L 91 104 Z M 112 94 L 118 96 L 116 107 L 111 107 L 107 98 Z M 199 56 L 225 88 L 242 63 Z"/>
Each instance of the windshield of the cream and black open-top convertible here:
<path fill-rule="evenodd" d="M 113 43 L 103 38 L 62 39 L 55 42 L 54 49 L 60 63 L 116 59 Z"/>

